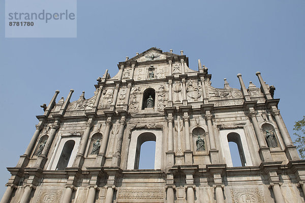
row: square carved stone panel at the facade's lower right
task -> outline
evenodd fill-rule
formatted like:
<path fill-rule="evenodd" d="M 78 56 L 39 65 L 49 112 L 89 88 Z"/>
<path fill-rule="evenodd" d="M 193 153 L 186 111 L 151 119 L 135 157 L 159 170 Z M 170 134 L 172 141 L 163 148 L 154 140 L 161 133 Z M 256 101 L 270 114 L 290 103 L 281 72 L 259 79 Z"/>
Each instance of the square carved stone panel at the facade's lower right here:
<path fill-rule="evenodd" d="M 233 203 L 264 203 L 264 193 L 261 189 L 231 190 Z"/>

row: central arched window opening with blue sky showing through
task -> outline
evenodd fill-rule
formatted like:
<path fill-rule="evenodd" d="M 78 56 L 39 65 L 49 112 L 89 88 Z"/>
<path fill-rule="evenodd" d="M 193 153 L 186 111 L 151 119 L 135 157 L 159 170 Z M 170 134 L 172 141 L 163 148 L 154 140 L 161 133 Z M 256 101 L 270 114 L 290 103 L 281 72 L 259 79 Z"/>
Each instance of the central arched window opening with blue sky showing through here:
<path fill-rule="evenodd" d="M 142 133 L 141 135 L 139 135 L 137 140 L 134 169 L 155 168 L 155 156 L 156 156 L 155 154 L 156 154 L 156 135 L 149 132 Z M 141 167 L 139 168 L 139 166 Z"/>

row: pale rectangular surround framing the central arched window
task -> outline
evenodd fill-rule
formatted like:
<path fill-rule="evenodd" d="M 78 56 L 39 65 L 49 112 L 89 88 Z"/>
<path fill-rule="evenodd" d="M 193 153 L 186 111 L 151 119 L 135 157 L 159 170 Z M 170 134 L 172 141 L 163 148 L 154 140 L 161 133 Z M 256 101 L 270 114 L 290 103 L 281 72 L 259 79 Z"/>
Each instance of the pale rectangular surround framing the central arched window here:
<path fill-rule="evenodd" d="M 139 136 L 140 138 L 138 139 Z M 152 130 L 152 129 L 149 130 L 139 129 L 132 131 L 130 145 L 129 145 L 128 159 L 127 159 L 127 169 L 137 169 L 138 166 L 137 155 L 140 155 L 139 149 L 142 143 L 144 143 L 145 141 L 156 141 L 154 169 L 161 169 L 162 130 Z"/>

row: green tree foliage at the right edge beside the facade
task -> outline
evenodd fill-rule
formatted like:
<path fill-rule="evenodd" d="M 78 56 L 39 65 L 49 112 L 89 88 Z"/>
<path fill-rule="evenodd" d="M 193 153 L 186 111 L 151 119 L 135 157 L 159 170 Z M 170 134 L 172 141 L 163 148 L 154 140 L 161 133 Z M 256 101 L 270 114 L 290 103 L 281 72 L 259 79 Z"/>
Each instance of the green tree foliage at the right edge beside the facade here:
<path fill-rule="evenodd" d="M 301 158 L 305 159 L 305 116 L 303 116 L 302 120 L 295 122 L 293 130 L 296 131 L 293 134 L 297 136 L 295 139 L 296 148 Z"/>

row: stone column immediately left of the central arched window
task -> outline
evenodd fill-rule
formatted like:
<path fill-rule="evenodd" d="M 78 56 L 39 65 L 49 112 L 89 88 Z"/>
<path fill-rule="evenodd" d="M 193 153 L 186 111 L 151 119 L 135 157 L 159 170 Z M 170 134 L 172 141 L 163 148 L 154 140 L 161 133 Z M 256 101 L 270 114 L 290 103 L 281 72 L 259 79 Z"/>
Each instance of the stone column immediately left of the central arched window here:
<path fill-rule="evenodd" d="M 116 142 L 116 152 L 112 156 L 112 166 L 119 167 L 120 164 L 120 155 L 122 150 L 122 141 L 123 141 L 123 135 L 124 135 L 124 128 L 126 125 L 126 119 L 125 116 L 122 116 L 122 118 L 119 120 L 119 129 L 118 129 L 118 136 L 117 136 L 117 142 Z"/>

